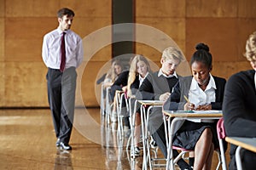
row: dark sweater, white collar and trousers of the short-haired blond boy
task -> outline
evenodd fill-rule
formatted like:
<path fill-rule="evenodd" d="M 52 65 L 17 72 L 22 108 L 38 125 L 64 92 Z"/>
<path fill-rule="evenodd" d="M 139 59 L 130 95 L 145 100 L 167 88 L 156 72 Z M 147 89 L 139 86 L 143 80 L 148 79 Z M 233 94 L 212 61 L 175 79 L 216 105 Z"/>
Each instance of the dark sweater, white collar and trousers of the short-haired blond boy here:
<path fill-rule="evenodd" d="M 176 72 L 170 77 L 166 77 L 161 70 L 148 74 L 136 94 L 136 99 L 159 100 L 161 94 L 172 92 L 172 88 L 178 82 L 178 78 L 180 76 Z M 165 128 L 161 108 L 154 108 L 150 113 L 148 130 L 166 157 L 167 154 L 164 151 L 166 150 Z"/>

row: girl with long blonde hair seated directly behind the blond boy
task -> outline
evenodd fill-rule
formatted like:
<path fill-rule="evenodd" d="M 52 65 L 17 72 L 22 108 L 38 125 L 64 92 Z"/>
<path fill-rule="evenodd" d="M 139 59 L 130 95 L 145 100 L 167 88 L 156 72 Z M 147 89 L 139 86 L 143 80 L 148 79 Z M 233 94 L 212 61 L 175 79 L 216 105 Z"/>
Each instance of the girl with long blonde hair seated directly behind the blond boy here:
<path fill-rule="evenodd" d="M 129 97 L 133 97 L 137 93 L 137 89 L 140 87 L 140 85 L 143 83 L 144 79 L 147 77 L 148 72 L 151 72 L 150 65 L 148 63 L 148 60 L 143 56 L 137 54 L 131 61 L 131 68 L 129 71 L 129 77 L 128 77 L 128 84 L 127 87 L 123 88 L 124 91 L 127 90 L 127 94 Z M 134 103 L 134 100 L 131 101 Z M 136 122 L 135 122 L 135 150 L 131 153 L 131 156 L 139 156 L 140 155 L 140 149 L 139 149 L 139 138 L 140 138 L 140 124 L 141 124 L 141 116 L 139 111 L 136 113 Z"/>

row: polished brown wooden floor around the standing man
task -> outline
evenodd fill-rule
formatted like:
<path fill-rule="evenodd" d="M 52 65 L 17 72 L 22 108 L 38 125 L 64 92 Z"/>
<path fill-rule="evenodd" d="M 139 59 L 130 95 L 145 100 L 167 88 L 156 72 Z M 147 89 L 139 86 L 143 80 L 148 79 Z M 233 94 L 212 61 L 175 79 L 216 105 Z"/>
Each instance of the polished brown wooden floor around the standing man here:
<path fill-rule="evenodd" d="M 128 159 L 127 138 L 118 140 L 115 125 L 101 119 L 98 108 L 77 111 L 73 150 L 63 151 L 55 147 L 48 109 L 0 110 L 0 169 L 141 169 L 142 157 Z M 217 161 L 214 156 L 212 169 Z"/>

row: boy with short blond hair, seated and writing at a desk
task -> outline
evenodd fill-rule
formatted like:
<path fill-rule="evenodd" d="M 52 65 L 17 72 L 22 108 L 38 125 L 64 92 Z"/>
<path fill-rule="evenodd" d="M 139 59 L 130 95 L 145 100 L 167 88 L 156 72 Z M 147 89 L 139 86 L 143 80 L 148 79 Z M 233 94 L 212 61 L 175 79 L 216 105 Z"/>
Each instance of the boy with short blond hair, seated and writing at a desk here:
<path fill-rule="evenodd" d="M 180 78 L 176 73 L 176 68 L 182 60 L 183 55 L 177 48 L 166 48 L 160 59 L 160 71 L 148 74 L 136 94 L 136 99 L 166 101 L 171 95 L 172 88 Z M 164 150 L 164 156 L 167 157 L 165 130 L 164 128 L 159 129 L 159 127 L 164 127 L 163 124 L 161 109 L 152 111 L 148 117 L 148 130 L 156 144 L 160 147 L 160 150 Z M 177 150 L 174 150 L 173 154 L 177 156 Z M 189 165 L 183 159 L 177 161 L 177 164 L 182 169 L 189 168 Z"/>

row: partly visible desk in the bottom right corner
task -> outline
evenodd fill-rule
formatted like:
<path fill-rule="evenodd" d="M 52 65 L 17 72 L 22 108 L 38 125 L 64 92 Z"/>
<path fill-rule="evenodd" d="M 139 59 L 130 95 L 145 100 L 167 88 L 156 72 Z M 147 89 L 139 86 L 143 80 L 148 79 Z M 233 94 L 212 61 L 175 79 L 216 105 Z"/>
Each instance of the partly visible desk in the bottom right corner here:
<path fill-rule="evenodd" d="M 241 170 L 241 149 L 243 148 L 256 153 L 256 139 L 242 137 L 226 137 L 225 140 L 230 144 L 235 144 L 238 146 L 236 148 L 236 167 L 238 170 Z"/>

